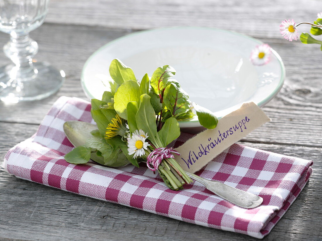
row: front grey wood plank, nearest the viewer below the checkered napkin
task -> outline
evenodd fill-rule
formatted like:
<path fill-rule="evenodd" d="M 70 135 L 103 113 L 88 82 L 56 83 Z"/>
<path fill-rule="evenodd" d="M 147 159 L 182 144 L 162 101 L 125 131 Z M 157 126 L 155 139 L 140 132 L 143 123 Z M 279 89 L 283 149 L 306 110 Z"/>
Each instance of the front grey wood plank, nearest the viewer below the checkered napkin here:
<path fill-rule="evenodd" d="M 36 125 L 1 123 L 0 166 L 6 151 L 36 130 Z M 265 240 L 320 240 L 321 149 L 240 143 L 314 161 L 314 172 L 307 186 Z M 0 169 L 0 202 L 0 239 L 257 240 L 21 180 L 3 168 Z"/>

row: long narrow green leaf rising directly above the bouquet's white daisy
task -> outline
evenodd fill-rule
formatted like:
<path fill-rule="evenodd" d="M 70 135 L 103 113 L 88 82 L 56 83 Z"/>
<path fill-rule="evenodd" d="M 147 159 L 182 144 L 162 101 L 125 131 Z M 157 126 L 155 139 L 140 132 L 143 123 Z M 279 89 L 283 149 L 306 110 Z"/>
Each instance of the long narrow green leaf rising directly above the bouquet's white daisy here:
<path fill-rule="evenodd" d="M 150 96 L 143 94 L 140 97 L 140 106 L 136 114 L 137 128 L 147 132 L 150 140 L 156 142 L 156 114 L 150 103 Z"/>

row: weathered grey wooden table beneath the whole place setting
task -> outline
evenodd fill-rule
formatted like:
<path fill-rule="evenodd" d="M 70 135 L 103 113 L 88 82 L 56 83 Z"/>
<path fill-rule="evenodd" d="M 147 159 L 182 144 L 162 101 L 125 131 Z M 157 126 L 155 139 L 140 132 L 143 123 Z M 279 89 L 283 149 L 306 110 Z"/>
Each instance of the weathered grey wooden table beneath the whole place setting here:
<path fill-rule="evenodd" d="M 241 143 L 314 161 L 307 186 L 265 240 L 321 240 L 322 53 L 317 45 L 288 42 L 279 34 L 281 20 L 313 21 L 317 11 L 319 0 L 52 0 L 46 22 L 31 37 L 39 44 L 36 58 L 62 68 L 66 82 L 41 101 L 0 103 L 0 164 L 9 148 L 37 130 L 59 96 L 86 99 L 82 66 L 112 39 L 166 26 L 235 30 L 268 43 L 286 66 L 282 90 L 263 108 L 272 121 Z M 0 45 L 8 38 L 1 33 Z M 7 62 L 0 53 L 0 64 Z M 0 240 L 256 240 L 24 181 L 3 168 L 0 203 Z"/>

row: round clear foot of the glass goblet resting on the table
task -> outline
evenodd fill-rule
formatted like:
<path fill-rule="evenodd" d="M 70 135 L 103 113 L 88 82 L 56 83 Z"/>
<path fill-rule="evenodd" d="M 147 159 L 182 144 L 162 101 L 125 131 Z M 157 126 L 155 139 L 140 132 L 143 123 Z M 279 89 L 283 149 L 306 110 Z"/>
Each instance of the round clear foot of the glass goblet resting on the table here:
<path fill-rule="evenodd" d="M 65 80 L 65 73 L 45 62 L 33 63 L 34 72 L 28 78 L 14 76 L 14 65 L 0 68 L 0 100 L 5 103 L 18 103 L 44 99 L 55 93 Z"/>

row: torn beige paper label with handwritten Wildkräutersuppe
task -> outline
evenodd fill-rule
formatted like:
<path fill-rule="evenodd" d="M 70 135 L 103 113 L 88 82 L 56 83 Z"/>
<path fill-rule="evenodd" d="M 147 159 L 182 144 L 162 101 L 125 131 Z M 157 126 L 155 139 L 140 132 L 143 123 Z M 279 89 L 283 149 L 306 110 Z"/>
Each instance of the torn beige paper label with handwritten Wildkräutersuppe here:
<path fill-rule="evenodd" d="M 241 108 L 223 116 L 213 130 L 205 130 L 175 148 L 181 155 L 175 160 L 185 171 L 196 172 L 209 161 L 260 127 L 270 118 L 254 103 L 243 103 Z"/>

